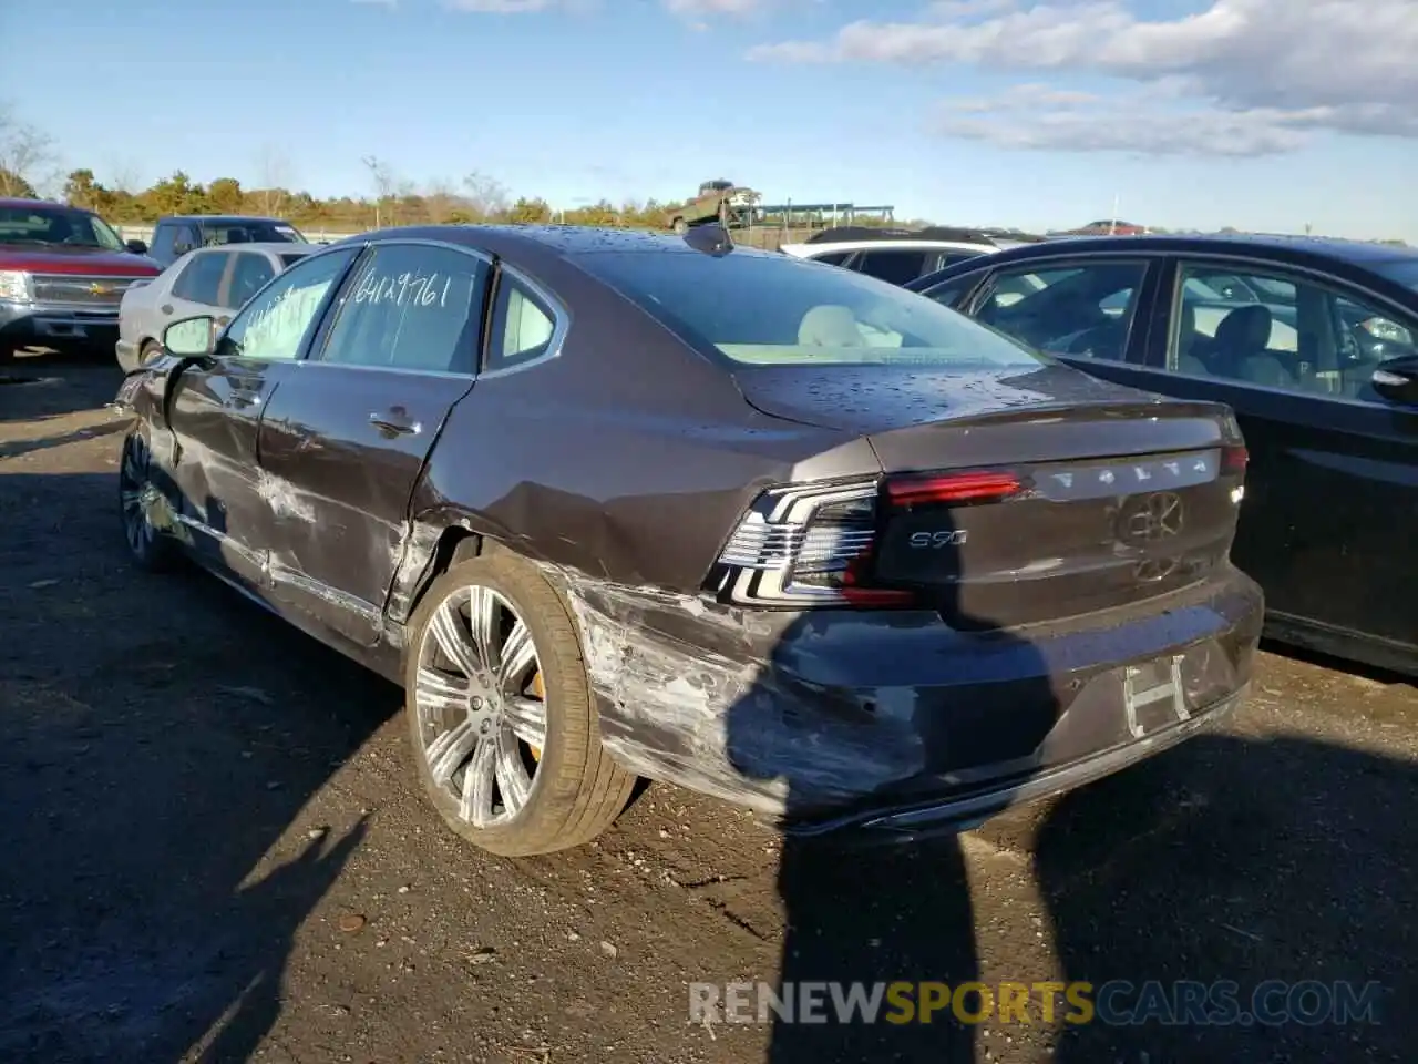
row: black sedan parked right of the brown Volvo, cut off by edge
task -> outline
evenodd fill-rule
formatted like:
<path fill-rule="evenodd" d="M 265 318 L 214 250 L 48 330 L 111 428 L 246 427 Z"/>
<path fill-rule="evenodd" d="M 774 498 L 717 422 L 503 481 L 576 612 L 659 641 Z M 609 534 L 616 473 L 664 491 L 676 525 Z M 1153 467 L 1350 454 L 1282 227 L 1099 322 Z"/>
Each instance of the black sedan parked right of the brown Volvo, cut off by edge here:
<path fill-rule="evenodd" d="M 1228 403 L 1266 630 L 1418 674 L 1418 250 L 1285 237 L 1017 248 L 909 285 L 1107 380 Z"/>

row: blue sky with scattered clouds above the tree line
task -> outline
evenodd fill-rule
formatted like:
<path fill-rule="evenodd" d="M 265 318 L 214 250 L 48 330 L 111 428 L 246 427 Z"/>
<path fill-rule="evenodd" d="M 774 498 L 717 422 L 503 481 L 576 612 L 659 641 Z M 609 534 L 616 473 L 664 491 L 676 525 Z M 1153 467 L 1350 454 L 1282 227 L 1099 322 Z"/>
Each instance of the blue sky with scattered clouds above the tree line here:
<path fill-rule="evenodd" d="M 1418 243 L 1414 0 L 4 0 L 67 167 Z M 532 9 L 532 10 L 478 10 Z M 52 45 L 52 47 L 51 47 Z M 268 167 L 262 159 L 282 160 Z"/>

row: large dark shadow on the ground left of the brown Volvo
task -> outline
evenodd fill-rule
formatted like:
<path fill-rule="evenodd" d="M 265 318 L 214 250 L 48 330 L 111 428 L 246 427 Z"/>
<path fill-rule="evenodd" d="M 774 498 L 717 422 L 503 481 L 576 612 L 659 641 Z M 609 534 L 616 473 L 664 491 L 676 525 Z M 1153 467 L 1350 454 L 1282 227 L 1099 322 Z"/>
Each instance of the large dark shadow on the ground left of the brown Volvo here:
<path fill-rule="evenodd" d="M 0 467 L 0 1060 L 245 1060 L 366 829 L 303 810 L 401 695 L 116 512 Z"/>

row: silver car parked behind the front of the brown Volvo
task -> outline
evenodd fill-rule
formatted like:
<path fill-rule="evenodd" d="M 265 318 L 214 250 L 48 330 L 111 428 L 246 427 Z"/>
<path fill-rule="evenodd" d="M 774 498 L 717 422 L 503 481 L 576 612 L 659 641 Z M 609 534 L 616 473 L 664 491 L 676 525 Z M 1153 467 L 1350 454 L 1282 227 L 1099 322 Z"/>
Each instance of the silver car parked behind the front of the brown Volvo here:
<path fill-rule="evenodd" d="M 220 244 L 179 258 L 152 281 L 139 282 L 118 308 L 118 365 L 130 373 L 162 348 L 163 329 L 193 315 L 225 323 L 267 281 L 313 245 Z"/>

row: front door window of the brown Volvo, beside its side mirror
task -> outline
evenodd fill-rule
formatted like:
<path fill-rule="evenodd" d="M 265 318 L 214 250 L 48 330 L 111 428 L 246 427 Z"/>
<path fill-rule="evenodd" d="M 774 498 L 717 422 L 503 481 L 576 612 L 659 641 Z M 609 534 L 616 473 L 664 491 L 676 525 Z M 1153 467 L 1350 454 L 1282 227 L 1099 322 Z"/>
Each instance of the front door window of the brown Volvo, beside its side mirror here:
<path fill-rule="evenodd" d="M 298 359 L 315 331 L 330 288 L 357 254 L 342 248 L 299 262 L 248 302 L 227 328 L 220 355 L 242 359 Z"/>

